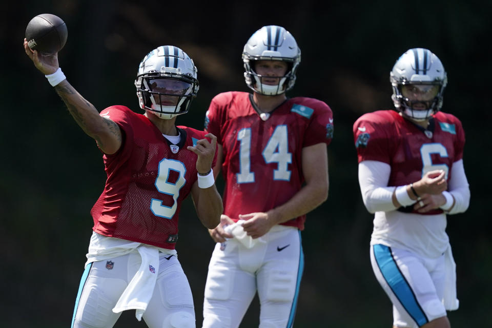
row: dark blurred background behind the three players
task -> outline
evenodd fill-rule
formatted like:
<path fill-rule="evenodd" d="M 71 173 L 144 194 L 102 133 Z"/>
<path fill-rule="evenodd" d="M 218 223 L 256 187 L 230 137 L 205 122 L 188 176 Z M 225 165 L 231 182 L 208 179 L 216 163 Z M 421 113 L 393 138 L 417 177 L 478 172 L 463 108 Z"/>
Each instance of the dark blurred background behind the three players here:
<path fill-rule="evenodd" d="M 198 67 L 200 91 L 178 124 L 201 129 L 212 97 L 249 91 L 241 51 L 264 25 L 289 30 L 302 50 L 290 96 L 331 106 L 330 194 L 308 216 L 302 234 L 306 267 L 296 327 L 391 327 L 391 303 L 371 269 L 372 215 L 357 181 L 353 122 L 392 108 L 389 71 L 407 49 L 435 52 L 448 73 L 443 111 L 463 122 L 470 208 L 450 216 L 447 232 L 458 274 L 460 309 L 453 327 L 492 326 L 490 300 L 490 145 L 486 91 L 492 73 L 490 1 L 164 2 L 18 1 L 4 4 L 0 22 L 2 119 L 0 140 L 1 327 L 68 327 L 92 228 L 90 209 L 105 173 L 95 142 L 65 109 L 25 55 L 29 20 L 63 18 L 68 41 L 59 62 L 70 83 L 103 110 L 138 110 L 133 81 L 142 57 L 160 45 L 185 50 Z M 222 190 L 223 181 L 218 182 Z M 489 204 L 489 205 L 487 205 Z M 203 288 L 214 243 L 187 200 L 177 250 L 202 322 Z M 134 312 L 115 327 L 145 327 Z M 241 327 L 258 326 L 255 299 Z"/>

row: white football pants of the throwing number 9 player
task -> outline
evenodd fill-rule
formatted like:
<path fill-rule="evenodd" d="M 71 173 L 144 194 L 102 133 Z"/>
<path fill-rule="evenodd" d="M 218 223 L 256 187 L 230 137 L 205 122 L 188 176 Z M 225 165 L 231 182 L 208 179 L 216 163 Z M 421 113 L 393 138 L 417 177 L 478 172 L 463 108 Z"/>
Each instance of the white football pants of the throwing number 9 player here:
<path fill-rule="evenodd" d="M 137 251 L 87 264 L 75 301 L 72 328 L 111 328 L 113 313 L 141 264 Z M 175 255 L 160 254 L 154 293 L 142 317 L 149 328 L 195 327 L 190 284 Z M 132 310 L 134 311 L 134 310 Z M 136 319 L 135 319 L 136 320 Z"/>

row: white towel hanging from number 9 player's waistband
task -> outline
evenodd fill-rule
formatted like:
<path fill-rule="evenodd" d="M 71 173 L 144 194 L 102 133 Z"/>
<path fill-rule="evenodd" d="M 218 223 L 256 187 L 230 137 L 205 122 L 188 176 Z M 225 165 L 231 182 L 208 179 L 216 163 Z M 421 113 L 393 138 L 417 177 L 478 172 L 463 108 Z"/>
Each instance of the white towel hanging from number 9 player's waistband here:
<path fill-rule="evenodd" d="M 147 305 L 154 293 L 159 272 L 159 251 L 156 248 L 141 245 L 137 248 L 142 263 L 127 288 L 121 294 L 113 308 L 114 313 L 136 309 L 135 317 L 142 319 Z"/>

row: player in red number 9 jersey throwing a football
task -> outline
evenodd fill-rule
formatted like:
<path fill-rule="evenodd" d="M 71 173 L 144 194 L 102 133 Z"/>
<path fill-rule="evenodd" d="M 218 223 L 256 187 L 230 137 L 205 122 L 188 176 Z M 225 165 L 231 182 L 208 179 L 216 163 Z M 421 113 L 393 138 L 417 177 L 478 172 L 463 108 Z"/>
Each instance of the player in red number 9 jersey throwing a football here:
<path fill-rule="evenodd" d="M 202 224 L 222 213 L 215 188 L 216 137 L 176 126 L 198 91 L 193 60 L 161 46 L 141 61 L 137 114 L 125 106 L 100 113 L 66 80 L 57 54 L 26 54 L 44 73 L 77 124 L 103 153 L 106 185 L 94 204 L 93 234 L 71 327 L 112 327 L 135 309 L 149 327 L 195 327 L 193 297 L 175 250 L 182 200 L 191 193 Z"/>

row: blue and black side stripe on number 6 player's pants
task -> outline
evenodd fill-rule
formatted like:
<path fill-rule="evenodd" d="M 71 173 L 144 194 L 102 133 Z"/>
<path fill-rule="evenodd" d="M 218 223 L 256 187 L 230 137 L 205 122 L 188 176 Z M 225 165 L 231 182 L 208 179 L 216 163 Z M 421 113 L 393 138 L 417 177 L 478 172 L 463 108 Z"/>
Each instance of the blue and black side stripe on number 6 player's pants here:
<path fill-rule="evenodd" d="M 415 297 L 414 291 L 401 273 L 391 253 L 391 248 L 376 244 L 373 245 L 374 257 L 378 263 L 379 270 L 393 291 L 396 298 L 409 316 L 421 327 L 429 322 L 420 304 Z"/>

